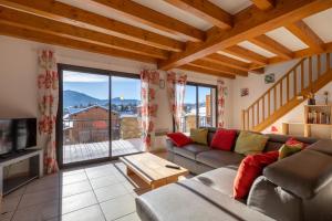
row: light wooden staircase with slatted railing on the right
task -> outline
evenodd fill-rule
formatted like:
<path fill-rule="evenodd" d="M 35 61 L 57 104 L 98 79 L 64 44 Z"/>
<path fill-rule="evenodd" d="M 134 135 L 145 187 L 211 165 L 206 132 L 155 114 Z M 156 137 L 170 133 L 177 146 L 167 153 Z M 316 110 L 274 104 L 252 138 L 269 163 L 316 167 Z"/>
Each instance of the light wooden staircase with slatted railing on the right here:
<path fill-rule="evenodd" d="M 261 131 L 317 93 L 332 80 L 331 54 L 302 59 L 247 109 L 242 109 L 242 129 Z"/>

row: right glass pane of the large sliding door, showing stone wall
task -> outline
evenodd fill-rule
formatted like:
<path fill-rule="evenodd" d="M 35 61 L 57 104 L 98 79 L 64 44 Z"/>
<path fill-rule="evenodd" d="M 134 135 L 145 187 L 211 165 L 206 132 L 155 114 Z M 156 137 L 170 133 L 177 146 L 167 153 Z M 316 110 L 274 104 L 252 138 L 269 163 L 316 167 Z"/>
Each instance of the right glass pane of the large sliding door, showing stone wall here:
<path fill-rule="evenodd" d="M 141 135 L 141 81 L 112 76 L 112 156 L 143 150 Z"/>

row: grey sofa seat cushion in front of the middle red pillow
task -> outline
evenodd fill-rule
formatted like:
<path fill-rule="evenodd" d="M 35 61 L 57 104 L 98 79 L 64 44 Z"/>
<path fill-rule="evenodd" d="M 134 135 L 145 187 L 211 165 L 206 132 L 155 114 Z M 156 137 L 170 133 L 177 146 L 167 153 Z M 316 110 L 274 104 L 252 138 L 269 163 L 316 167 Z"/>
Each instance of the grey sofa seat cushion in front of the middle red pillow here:
<path fill-rule="evenodd" d="M 199 152 L 196 156 L 196 160 L 207 166 L 219 168 L 225 166 L 238 166 L 243 157 L 243 155 L 239 155 L 232 151 L 211 149 L 208 151 Z"/>

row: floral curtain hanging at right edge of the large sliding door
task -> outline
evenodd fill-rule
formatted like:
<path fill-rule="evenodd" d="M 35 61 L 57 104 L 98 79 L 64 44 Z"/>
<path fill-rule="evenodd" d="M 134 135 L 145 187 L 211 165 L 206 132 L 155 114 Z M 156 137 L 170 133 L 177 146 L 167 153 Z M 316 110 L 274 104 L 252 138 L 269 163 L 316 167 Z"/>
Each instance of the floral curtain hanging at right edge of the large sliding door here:
<path fill-rule="evenodd" d="M 159 73 L 157 71 L 143 70 L 141 72 L 141 98 L 142 98 L 142 129 L 145 150 L 152 148 L 155 131 L 155 119 L 158 105 L 156 104 L 156 92 L 159 86 Z"/>

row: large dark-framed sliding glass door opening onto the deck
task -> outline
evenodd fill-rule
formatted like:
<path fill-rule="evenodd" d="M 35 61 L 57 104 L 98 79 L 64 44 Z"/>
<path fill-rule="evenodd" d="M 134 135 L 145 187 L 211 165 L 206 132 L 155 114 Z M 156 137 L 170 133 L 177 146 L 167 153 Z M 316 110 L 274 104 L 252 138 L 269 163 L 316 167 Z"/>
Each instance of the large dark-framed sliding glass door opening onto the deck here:
<path fill-rule="evenodd" d="M 60 165 L 142 151 L 137 75 L 60 65 Z"/>

